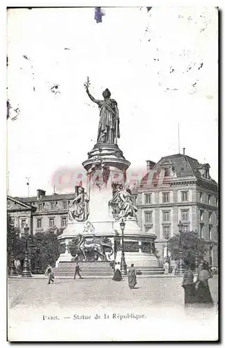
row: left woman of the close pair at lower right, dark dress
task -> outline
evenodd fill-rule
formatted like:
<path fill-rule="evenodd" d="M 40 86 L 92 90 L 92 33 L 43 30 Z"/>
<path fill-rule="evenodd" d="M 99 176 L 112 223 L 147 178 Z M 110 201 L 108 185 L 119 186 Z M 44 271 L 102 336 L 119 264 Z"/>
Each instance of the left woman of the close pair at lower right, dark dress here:
<path fill-rule="evenodd" d="M 187 268 L 185 269 L 182 287 L 185 290 L 185 306 L 195 303 L 196 290 L 194 285 L 194 273 L 193 273 L 193 266 L 190 264 L 187 264 Z"/>

